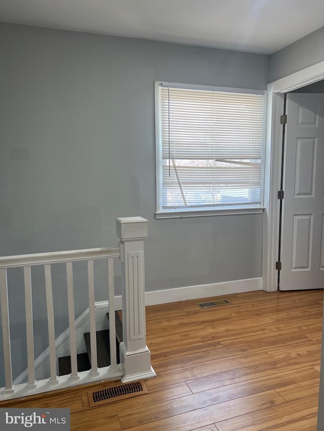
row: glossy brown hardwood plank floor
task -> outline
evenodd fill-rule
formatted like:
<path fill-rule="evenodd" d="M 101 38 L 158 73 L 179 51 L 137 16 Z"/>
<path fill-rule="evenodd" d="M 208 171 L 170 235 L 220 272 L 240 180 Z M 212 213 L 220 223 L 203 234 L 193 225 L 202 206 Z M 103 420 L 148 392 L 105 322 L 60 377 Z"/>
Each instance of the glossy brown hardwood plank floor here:
<path fill-rule="evenodd" d="M 0 407 L 69 407 L 72 430 L 315 431 L 322 297 L 260 291 L 209 309 L 198 300 L 147 307 L 157 373 L 148 394 L 84 407 L 86 390 L 104 382 Z"/>

